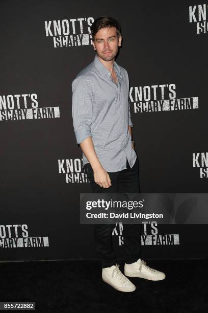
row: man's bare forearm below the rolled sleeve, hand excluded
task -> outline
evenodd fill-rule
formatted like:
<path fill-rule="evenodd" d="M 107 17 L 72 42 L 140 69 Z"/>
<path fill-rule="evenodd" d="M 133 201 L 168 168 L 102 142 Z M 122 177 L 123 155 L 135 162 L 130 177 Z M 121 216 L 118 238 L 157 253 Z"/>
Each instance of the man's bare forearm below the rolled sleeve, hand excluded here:
<path fill-rule="evenodd" d="M 92 166 L 93 170 L 98 169 L 98 168 L 102 168 L 102 166 L 101 166 L 101 164 L 97 158 L 97 154 L 95 152 L 95 149 L 94 149 L 92 137 L 88 137 L 85 140 L 83 140 L 83 142 L 80 143 L 80 147 L 81 147 L 82 151 L 84 152 L 84 154 L 86 155 L 86 158 L 90 162 L 90 165 Z"/>

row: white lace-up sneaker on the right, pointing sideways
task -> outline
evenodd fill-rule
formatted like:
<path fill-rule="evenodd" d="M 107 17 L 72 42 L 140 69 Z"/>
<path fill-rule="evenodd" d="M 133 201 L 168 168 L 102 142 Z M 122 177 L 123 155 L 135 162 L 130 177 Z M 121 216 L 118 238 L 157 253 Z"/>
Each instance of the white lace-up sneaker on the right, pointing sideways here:
<path fill-rule="evenodd" d="M 165 278 L 165 273 L 151 269 L 146 265 L 144 260 L 137 260 L 132 264 L 124 265 L 124 274 L 129 277 L 140 277 L 149 280 L 162 280 Z"/>

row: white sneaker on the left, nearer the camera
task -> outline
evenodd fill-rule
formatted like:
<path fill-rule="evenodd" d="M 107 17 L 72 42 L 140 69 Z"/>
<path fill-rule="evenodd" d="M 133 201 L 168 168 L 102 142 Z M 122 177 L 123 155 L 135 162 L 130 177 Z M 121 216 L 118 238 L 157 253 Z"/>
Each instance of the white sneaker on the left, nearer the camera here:
<path fill-rule="evenodd" d="M 125 293 L 133 292 L 136 289 L 135 285 L 121 273 L 117 263 L 102 269 L 102 280 L 113 288 Z"/>

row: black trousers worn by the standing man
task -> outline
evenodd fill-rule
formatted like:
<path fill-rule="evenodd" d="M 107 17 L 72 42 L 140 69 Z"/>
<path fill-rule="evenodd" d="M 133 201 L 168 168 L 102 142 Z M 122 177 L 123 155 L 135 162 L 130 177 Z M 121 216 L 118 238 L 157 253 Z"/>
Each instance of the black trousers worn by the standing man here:
<path fill-rule="evenodd" d="M 138 157 L 131 168 L 126 158 L 126 169 L 118 172 L 108 172 L 111 187 L 100 187 L 94 181 L 93 169 L 90 163 L 84 165 L 84 171 L 90 181 L 92 193 L 140 193 L 139 160 Z M 112 231 L 115 224 L 94 225 L 94 237 L 97 255 L 102 267 L 115 265 L 116 256 L 113 250 Z M 141 257 L 141 224 L 123 225 L 125 263 L 131 264 Z"/>

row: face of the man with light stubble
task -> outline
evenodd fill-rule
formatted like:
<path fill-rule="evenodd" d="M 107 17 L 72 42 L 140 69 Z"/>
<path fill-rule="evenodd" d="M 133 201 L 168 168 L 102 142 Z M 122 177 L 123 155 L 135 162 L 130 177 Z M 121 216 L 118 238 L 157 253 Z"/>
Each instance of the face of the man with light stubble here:
<path fill-rule="evenodd" d="M 111 61 L 118 53 L 118 47 L 121 46 L 120 36 L 118 38 L 115 27 L 101 28 L 95 35 L 93 47 L 97 55 L 104 61 Z"/>

